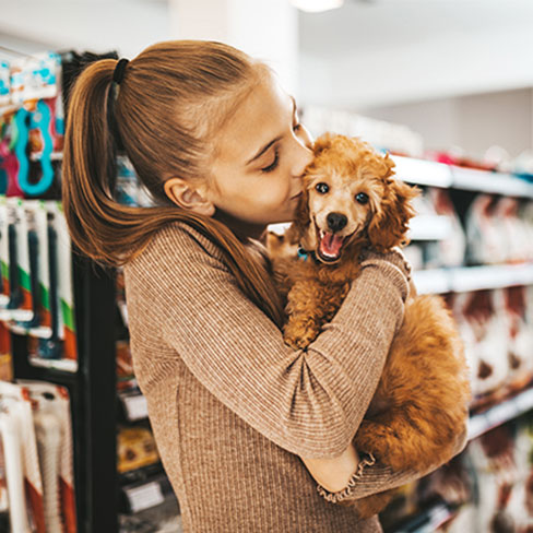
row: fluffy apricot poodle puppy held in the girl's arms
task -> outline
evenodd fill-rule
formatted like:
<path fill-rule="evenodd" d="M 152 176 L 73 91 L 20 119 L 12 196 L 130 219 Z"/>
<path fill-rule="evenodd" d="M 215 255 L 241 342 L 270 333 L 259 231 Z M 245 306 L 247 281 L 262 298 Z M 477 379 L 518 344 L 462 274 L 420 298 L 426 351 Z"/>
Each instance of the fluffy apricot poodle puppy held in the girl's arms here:
<path fill-rule="evenodd" d="M 296 221 L 283 236 L 268 236 L 286 298 L 284 339 L 297 348 L 334 317 L 364 250 L 387 252 L 406 244 L 414 215 L 410 201 L 418 193 L 394 178 L 388 155 L 358 139 L 324 134 L 313 150 Z M 466 363 L 451 313 L 442 298 L 416 296 L 412 286 L 355 447 L 393 471 L 423 475 L 451 457 L 469 401 Z M 390 497 L 381 493 L 350 505 L 366 518 Z"/>

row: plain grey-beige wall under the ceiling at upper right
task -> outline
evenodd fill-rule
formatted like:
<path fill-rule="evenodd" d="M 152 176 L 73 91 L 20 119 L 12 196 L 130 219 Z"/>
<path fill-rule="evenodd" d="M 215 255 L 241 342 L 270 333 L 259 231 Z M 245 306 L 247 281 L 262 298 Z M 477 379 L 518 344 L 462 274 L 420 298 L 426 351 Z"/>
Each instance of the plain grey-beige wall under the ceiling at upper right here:
<path fill-rule="evenodd" d="M 483 157 L 488 147 L 499 145 L 514 157 L 533 147 L 531 88 L 370 107 L 360 112 L 411 127 L 430 150 L 460 146 L 469 156 Z"/>

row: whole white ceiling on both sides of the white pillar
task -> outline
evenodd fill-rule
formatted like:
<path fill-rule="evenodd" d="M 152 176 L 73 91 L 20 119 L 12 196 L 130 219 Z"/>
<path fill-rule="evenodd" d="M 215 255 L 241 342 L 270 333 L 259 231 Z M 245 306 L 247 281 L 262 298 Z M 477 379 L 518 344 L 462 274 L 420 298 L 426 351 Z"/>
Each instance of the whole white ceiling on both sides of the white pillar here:
<path fill-rule="evenodd" d="M 171 1 L 0 0 L 0 45 L 133 57 L 176 35 Z M 533 86 L 533 0 L 345 0 L 298 21 L 304 104 L 368 108 Z"/>

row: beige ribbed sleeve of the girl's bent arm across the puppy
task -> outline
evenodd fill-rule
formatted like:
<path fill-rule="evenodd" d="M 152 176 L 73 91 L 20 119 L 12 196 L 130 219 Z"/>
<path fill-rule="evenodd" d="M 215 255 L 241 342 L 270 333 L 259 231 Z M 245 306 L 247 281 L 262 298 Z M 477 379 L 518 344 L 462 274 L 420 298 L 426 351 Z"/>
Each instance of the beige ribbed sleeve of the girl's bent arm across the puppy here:
<path fill-rule="evenodd" d="M 153 317 L 159 342 L 277 446 L 307 458 L 341 454 L 403 318 L 404 259 L 368 258 L 334 320 L 307 351 L 294 351 L 240 292 L 222 258 L 191 232 L 164 229 L 129 268 L 134 299 L 144 301 L 143 320 Z M 129 293 L 128 306 L 130 315 L 139 312 L 137 304 L 130 309 Z"/>

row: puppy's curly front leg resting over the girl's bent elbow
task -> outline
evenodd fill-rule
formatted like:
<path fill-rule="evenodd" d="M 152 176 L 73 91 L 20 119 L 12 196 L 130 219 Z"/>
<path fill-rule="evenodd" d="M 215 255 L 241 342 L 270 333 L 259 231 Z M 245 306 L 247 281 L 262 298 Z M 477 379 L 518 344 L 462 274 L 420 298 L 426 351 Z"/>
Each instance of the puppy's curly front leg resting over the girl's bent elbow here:
<path fill-rule="evenodd" d="M 315 280 L 296 282 L 287 296 L 285 342 L 294 348 L 306 348 L 333 318 L 348 288 L 348 285 L 327 287 Z"/>

